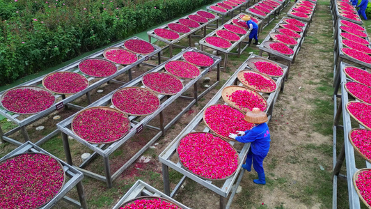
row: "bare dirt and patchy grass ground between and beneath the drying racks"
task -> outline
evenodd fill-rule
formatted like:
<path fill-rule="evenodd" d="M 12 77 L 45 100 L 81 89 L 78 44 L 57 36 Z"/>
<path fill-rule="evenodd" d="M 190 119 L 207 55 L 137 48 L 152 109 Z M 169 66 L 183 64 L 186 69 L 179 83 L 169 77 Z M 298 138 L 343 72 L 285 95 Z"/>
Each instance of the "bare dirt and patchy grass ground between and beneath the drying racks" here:
<path fill-rule="evenodd" d="M 292 3 L 283 12 L 287 12 L 291 6 Z M 265 38 L 278 20 L 284 16 L 285 13 L 281 13 L 277 20 L 265 28 L 260 34 L 260 40 Z M 256 172 L 248 173 L 246 171 L 240 184 L 242 192 L 236 194 L 231 208 L 331 208 L 331 171 L 333 166 L 331 130 L 333 118 L 333 101 L 331 99 L 333 91 L 331 87 L 333 81 L 332 33 L 329 1 L 319 0 L 308 36 L 303 42 L 296 62 L 291 65 L 290 77 L 285 83 L 285 90 L 280 93 L 274 107 L 273 117 L 269 122 L 271 148 L 264 162 L 267 185 L 255 185 L 253 179 L 257 177 Z M 250 55 L 249 52 L 258 54 L 257 48 L 252 46 L 239 59 L 237 56 L 230 56 L 227 70 L 221 73 L 221 83 L 226 82 L 239 65 L 247 59 Z M 263 54 L 263 56 L 267 56 L 267 54 Z M 276 61 L 285 64 L 282 60 L 277 59 Z M 145 70 L 148 68 L 143 66 L 137 68 L 134 77 L 141 75 Z M 207 76 L 214 80 L 216 75 L 212 72 Z M 157 140 L 158 144 L 155 144 L 155 148 L 150 148 L 144 153 L 145 156 L 152 157 L 150 162 L 136 161 L 113 182 L 111 189 L 107 189 L 105 183 L 88 177 L 84 178 L 83 183 L 89 208 L 112 208 L 138 179 L 163 190 L 161 164 L 157 156 L 199 113 L 221 85 L 207 93 L 198 104 L 184 114 L 166 132 L 164 137 Z M 104 84 L 104 86 L 100 86 L 100 89 L 104 89 L 104 93 L 108 93 L 118 86 L 120 85 Z M 203 84 L 199 84 L 200 89 L 203 89 Z M 97 100 L 103 95 L 93 93 L 93 100 Z M 84 103 L 84 98 L 81 98 L 77 103 Z M 171 116 L 177 114 L 177 111 L 182 107 L 184 107 L 182 101 L 175 102 L 171 107 L 168 107 L 165 111 L 165 120 L 170 121 Z M 74 110 L 63 110 L 58 114 L 63 119 L 74 112 Z M 30 126 L 29 130 L 34 130 L 34 127 L 40 124 L 48 124 L 46 125 L 47 130 L 51 130 L 58 122 L 53 121 L 52 116 Z M 158 118 L 155 118 L 151 125 L 158 125 L 157 121 Z M 3 121 L 0 122 L 5 124 Z M 43 134 L 43 132 L 31 131 L 30 136 L 32 139 L 38 139 Z M 143 146 L 154 134 L 150 130 L 145 130 L 136 135 L 123 148 L 113 153 L 112 170 L 116 171 L 121 164 L 129 159 L 132 153 L 136 152 L 136 149 Z M 13 137 L 22 141 L 20 134 L 14 134 Z M 80 155 L 89 150 L 73 140 L 70 141 L 70 146 L 74 162 L 80 163 Z M 0 156 L 14 148 L 9 144 L 0 144 L 0 147 Z M 42 148 L 65 160 L 61 136 L 58 135 L 47 141 L 42 145 Z M 98 173 L 103 172 L 102 160 L 98 158 L 89 165 L 88 169 Z M 170 177 L 173 188 L 182 176 L 176 171 L 170 170 Z M 340 182 L 340 184 L 342 183 Z M 340 201 L 339 208 L 347 208 L 346 186 L 343 189 L 345 191 L 340 192 L 339 199 L 342 196 L 345 198 Z M 72 191 L 70 196 L 76 198 L 76 192 Z M 190 208 L 219 208 L 219 196 L 191 180 L 184 183 L 184 188 L 180 189 L 175 199 Z M 61 202 L 57 204 L 56 208 L 70 208 L 70 206 Z"/>

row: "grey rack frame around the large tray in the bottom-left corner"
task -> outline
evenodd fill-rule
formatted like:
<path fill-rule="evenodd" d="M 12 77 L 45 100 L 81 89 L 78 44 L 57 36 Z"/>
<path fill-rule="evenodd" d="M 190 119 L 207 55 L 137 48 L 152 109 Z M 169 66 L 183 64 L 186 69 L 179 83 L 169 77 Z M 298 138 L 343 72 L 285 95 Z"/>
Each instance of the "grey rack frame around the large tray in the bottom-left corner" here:
<path fill-rule="evenodd" d="M 12 157 L 14 155 L 19 155 L 19 154 L 29 153 L 29 152 L 51 155 L 56 160 L 61 162 L 63 166 L 63 170 L 65 172 L 65 176 L 68 176 L 70 178 L 70 180 L 66 179 L 65 184 L 63 185 L 61 191 L 58 192 L 58 194 L 56 194 L 56 196 L 54 196 L 52 200 L 50 200 L 48 203 L 42 206 L 41 207 L 42 209 L 52 208 L 60 200 L 66 201 L 72 204 L 72 206 L 76 208 L 84 208 L 84 209 L 88 208 L 86 204 L 86 199 L 85 199 L 84 186 L 82 185 L 82 182 L 81 182 L 82 179 L 84 178 L 84 174 L 81 173 L 79 170 L 75 169 L 74 167 L 70 166 L 69 164 L 63 162 L 58 157 L 55 157 L 54 155 L 48 153 L 46 150 L 43 150 L 39 146 L 33 144 L 31 141 L 26 141 L 21 146 L 18 146 L 17 148 L 15 148 L 15 150 L 13 150 L 12 152 L 2 157 L 0 161 L 5 160 L 6 158 Z M 79 201 L 71 199 L 70 197 L 67 196 L 67 193 L 70 192 L 74 186 L 77 187 Z"/>

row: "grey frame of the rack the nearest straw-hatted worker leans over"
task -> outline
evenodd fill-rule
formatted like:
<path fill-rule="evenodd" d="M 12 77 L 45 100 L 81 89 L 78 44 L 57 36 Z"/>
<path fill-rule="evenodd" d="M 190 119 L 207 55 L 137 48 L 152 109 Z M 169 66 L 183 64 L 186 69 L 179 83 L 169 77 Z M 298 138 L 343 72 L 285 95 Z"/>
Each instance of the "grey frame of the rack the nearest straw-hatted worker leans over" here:
<path fill-rule="evenodd" d="M 210 100 L 210 102 L 208 102 L 205 105 L 205 107 L 194 117 L 194 119 L 191 122 L 189 122 L 189 124 L 186 127 L 184 127 L 184 130 L 182 130 L 182 132 L 180 132 L 180 134 L 177 135 L 177 137 L 171 142 L 171 144 L 169 144 L 168 147 L 166 147 L 164 151 L 159 155 L 159 161 L 162 163 L 162 173 L 164 176 L 163 177 L 164 178 L 164 193 L 166 195 L 171 196 L 171 197 L 175 196 L 177 191 L 181 188 L 182 184 L 184 183 L 184 180 L 186 178 L 190 178 L 191 180 L 196 181 L 196 183 L 203 185 L 207 189 L 210 189 L 212 190 L 212 192 L 215 192 L 216 194 L 218 194 L 220 196 L 220 205 L 219 205 L 220 208 L 224 209 L 224 208 L 230 207 L 233 197 L 235 196 L 237 187 L 244 174 L 244 169 L 241 169 L 241 167 L 242 167 L 242 164 L 244 164 L 244 157 L 246 156 L 250 148 L 249 143 L 244 144 L 244 147 L 239 152 L 239 160 L 241 162 L 239 164 L 239 167 L 237 168 L 237 172 L 233 176 L 228 178 L 227 180 L 224 180 L 223 181 L 224 183 L 221 187 L 217 187 L 216 185 L 214 185 L 212 180 L 203 180 L 202 178 L 194 175 L 194 173 L 187 171 L 186 169 L 182 168 L 180 162 L 173 162 L 171 158 L 173 155 L 176 155 L 176 148 L 177 148 L 177 144 L 179 143 L 180 139 L 182 139 L 182 137 L 185 134 L 188 134 L 189 132 L 193 132 L 194 130 L 196 130 L 196 128 L 203 122 L 203 112 L 205 111 L 205 109 L 212 104 L 216 104 L 219 101 L 223 101 L 223 99 L 221 98 L 221 92 L 223 91 L 223 88 L 225 88 L 226 86 L 231 86 L 233 84 L 239 83 L 237 79 L 238 72 L 241 70 L 249 69 L 247 63 L 248 63 L 248 60 L 252 58 L 262 58 L 262 57 L 257 56 L 255 54 L 251 54 L 251 56 L 249 56 L 248 59 L 244 61 L 244 63 L 242 63 L 242 65 L 238 68 L 238 70 L 236 70 L 236 72 L 230 77 L 230 79 L 228 79 L 226 84 L 224 84 L 221 87 L 221 89 L 214 95 L 214 97 Z M 278 98 L 278 94 L 280 91 L 283 91 L 283 87 L 285 84 L 284 77 L 288 69 L 286 65 L 282 65 L 280 63 L 276 63 L 276 64 L 281 66 L 284 72 L 283 72 L 282 77 L 274 78 L 277 84 L 276 91 L 274 91 L 273 93 L 264 94 L 265 97 L 267 97 L 268 107 L 267 107 L 266 113 L 268 114 L 269 120 L 271 119 L 272 111 L 274 108 L 274 104 Z M 242 84 L 239 84 L 239 85 L 242 85 Z M 206 125 L 203 125 L 203 127 L 205 127 L 203 129 L 203 132 L 210 132 L 210 129 Z M 203 127 L 199 127 L 199 128 L 203 128 Z M 238 142 L 234 142 L 234 141 L 230 142 L 232 146 L 235 145 L 235 143 L 238 143 Z M 170 188 L 170 181 L 169 181 L 169 175 L 168 175 L 169 167 L 179 173 L 182 173 L 183 175 L 183 178 L 180 180 L 179 183 L 177 183 L 177 185 L 175 186 L 175 189 L 173 189 L 173 192 L 171 192 L 170 190 L 171 188 Z M 227 199 L 228 196 L 230 196 L 229 199 Z"/>

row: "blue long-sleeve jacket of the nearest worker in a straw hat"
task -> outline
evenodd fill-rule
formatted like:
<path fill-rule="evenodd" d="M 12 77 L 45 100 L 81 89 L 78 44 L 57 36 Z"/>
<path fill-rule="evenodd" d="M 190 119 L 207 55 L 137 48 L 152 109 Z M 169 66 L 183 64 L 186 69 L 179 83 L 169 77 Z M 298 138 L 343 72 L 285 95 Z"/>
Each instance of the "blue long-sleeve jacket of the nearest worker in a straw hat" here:
<path fill-rule="evenodd" d="M 261 123 L 251 130 L 246 130 L 244 136 L 236 137 L 236 140 L 242 143 L 251 142 L 251 152 L 255 155 L 267 155 L 271 134 L 267 123 Z"/>

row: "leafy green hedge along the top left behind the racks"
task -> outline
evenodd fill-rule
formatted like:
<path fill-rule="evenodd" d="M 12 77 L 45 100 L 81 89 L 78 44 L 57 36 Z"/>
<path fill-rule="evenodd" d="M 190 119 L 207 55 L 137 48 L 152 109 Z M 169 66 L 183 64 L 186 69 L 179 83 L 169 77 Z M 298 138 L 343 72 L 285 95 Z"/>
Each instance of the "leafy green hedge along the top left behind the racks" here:
<path fill-rule="evenodd" d="M 214 0 L 0 0 L 0 86 Z"/>

